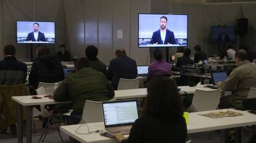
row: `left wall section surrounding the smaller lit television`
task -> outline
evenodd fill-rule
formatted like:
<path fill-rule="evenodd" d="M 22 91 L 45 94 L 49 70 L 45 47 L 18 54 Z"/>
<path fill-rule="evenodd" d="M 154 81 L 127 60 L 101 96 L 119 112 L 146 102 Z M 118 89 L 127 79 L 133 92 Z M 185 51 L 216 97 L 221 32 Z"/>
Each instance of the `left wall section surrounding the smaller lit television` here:
<path fill-rule="evenodd" d="M 1 0 L 2 20 L 1 20 L 1 42 L 0 51 L 6 44 L 14 44 L 16 47 L 16 57 L 22 61 L 30 61 L 30 44 L 16 44 L 16 21 L 17 20 L 38 20 L 56 22 L 56 44 L 47 46 L 52 53 L 59 49 L 59 44 L 64 42 L 64 12 L 61 0 Z M 1 38 L 2 39 L 2 38 Z M 33 44 L 33 58 L 38 44 Z M 3 54 L 1 54 L 3 55 Z"/>

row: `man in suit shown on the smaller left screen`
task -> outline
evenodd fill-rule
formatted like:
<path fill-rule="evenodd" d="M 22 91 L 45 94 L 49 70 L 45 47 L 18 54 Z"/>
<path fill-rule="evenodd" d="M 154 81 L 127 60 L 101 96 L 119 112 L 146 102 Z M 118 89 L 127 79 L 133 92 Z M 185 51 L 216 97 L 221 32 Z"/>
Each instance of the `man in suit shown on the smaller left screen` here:
<path fill-rule="evenodd" d="M 39 23 L 33 23 L 32 32 L 28 33 L 26 41 L 46 41 L 45 34 L 38 31 Z"/>

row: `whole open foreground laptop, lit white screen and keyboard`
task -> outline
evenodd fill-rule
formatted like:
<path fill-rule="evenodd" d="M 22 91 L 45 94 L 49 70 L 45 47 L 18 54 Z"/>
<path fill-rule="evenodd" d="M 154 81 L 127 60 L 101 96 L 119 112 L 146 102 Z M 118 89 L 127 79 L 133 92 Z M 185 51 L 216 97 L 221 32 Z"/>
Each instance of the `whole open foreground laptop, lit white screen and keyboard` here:
<path fill-rule="evenodd" d="M 105 129 L 111 133 L 129 134 L 134 121 L 139 118 L 137 100 L 103 102 Z"/>

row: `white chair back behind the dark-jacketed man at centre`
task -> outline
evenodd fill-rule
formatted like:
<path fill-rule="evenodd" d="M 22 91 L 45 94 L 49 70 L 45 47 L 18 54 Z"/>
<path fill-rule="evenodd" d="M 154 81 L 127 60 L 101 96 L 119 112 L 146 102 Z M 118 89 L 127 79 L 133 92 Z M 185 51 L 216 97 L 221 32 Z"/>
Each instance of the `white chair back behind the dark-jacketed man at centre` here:
<path fill-rule="evenodd" d="M 137 89 L 137 88 L 139 88 L 139 78 L 134 78 L 134 79 L 120 78 L 117 86 L 117 90 Z"/>

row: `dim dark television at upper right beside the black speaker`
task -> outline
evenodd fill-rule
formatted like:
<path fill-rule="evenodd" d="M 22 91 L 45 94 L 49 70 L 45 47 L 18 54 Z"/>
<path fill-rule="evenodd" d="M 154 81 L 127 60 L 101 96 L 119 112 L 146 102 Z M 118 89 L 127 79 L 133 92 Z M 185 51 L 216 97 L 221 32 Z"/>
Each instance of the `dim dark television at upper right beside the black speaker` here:
<path fill-rule="evenodd" d="M 211 43 L 236 43 L 234 27 L 211 26 Z"/>

